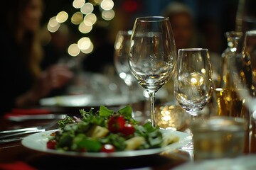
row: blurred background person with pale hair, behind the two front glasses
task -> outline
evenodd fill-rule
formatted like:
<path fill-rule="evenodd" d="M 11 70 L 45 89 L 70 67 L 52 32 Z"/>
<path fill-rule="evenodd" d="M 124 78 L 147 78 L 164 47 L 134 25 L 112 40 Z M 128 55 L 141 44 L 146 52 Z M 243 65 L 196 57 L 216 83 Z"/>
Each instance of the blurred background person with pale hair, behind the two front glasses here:
<path fill-rule="evenodd" d="M 206 47 L 203 44 L 203 35 L 198 32 L 193 11 L 189 6 L 182 2 L 173 1 L 164 8 L 161 14 L 169 17 L 177 50 L 181 48 Z M 220 69 L 219 58 L 218 56 L 216 57 L 215 53 L 213 55 L 210 50 L 209 54 L 213 68 L 213 79 L 218 81 Z M 174 81 L 169 81 L 166 88 L 169 91 L 169 98 L 167 100 L 174 102 Z M 203 112 L 208 113 L 208 107 L 204 108 Z"/>

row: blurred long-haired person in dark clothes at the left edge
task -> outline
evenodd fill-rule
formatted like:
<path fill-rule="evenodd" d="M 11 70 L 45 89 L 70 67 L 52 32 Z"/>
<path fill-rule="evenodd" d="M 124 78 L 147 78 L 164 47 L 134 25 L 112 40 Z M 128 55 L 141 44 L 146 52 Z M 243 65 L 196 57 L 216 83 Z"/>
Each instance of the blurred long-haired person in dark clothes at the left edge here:
<path fill-rule="evenodd" d="M 43 12 L 41 0 L 1 1 L 0 115 L 11 108 L 34 106 L 40 98 L 73 77 L 68 67 L 52 65 L 41 71 L 43 50 L 37 38 Z"/>

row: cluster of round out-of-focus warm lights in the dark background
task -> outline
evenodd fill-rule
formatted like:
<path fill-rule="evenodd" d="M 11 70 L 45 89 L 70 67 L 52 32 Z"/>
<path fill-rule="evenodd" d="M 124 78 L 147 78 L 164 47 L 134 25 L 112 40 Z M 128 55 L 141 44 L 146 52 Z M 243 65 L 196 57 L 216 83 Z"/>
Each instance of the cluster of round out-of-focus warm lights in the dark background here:
<path fill-rule="evenodd" d="M 114 1 L 112 0 L 74 0 L 73 7 L 79 9 L 70 17 L 71 23 L 78 25 L 80 33 L 87 34 L 93 29 L 93 26 L 99 20 L 99 16 L 93 13 L 95 6 L 100 7 L 101 18 L 110 21 L 114 18 Z M 65 11 L 60 11 L 57 16 L 53 16 L 48 21 L 47 29 L 50 33 L 55 33 L 61 23 L 68 21 L 69 15 Z M 77 43 L 73 43 L 68 47 L 68 54 L 72 57 L 80 55 L 80 52 L 89 54 L 94 49 L 94 45 L 90 38 L 82 37 Z"/>

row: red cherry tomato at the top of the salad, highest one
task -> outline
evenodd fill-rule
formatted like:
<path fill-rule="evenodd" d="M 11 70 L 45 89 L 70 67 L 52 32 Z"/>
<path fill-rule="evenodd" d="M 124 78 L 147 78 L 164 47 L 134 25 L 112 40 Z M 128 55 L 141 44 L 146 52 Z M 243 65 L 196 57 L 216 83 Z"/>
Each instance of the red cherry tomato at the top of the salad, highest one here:
<path fill-rule="evenodd" d="M 121 132 L 124 128 L 125 120 L 122 115 L 112 115 L 107 122 L 107 127 L 110 132 Z"/>

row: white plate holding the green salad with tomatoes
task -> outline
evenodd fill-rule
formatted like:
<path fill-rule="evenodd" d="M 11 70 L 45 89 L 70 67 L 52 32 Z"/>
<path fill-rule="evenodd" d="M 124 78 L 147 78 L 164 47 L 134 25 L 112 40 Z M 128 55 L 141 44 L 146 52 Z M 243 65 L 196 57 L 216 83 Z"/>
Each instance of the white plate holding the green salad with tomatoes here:
<path fill-rule="evenodd" d="M 173 130 L 163 130 L 164 135 L 177 135 L 179 137 L 178 142 L 175 142 L 166 147 L 157 148 L 157 149 L 144 149 L 144 150 L 136 150 L 136 151 L 122 151 L 122 152 L 112 152 L 112 153 L 102 153 L 102 152 L 63 152 L 54 149 L 47 149 L 46 142 L 48 141 L 48 135 L 50 133 L 55 132 L 55 130 L 49 130 L 46 132 L 39 132 L 33 135 L 29 135 L 25 137 L 21 143 L 24 147 L 29 149 L 33 149 L 40 152 L 46 152 L 49 154 L 60 154 L 65 156 L 74 156 L 74 157 L 94 157 L 94 158 L 106 158 L 106 157 L 138 157 L 145 156 L 150 154 L 159 154 L 161 152 L 171 152 L 174 149 L 178 149 L 183 145 L 191 142 L 191 136 L 184 132 L 173 131 Z"/>

